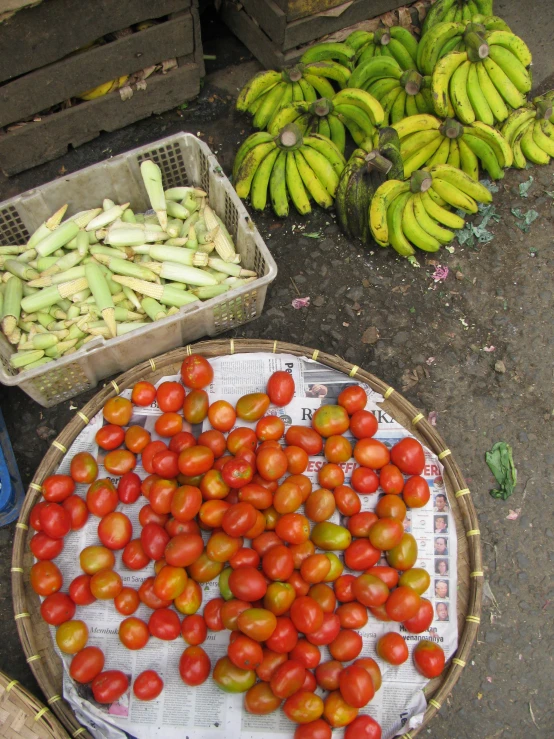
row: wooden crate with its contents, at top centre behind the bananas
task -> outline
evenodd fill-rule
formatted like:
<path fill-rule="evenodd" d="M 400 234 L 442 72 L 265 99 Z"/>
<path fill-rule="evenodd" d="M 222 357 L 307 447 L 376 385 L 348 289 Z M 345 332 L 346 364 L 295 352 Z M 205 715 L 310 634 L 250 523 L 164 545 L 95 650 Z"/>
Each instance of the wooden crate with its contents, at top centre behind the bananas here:
<path fill-rule="evenodd" d="M 406 0 L 223 0 L 222 17 L 268 69 L 297 62 L 306 44 Z"/>

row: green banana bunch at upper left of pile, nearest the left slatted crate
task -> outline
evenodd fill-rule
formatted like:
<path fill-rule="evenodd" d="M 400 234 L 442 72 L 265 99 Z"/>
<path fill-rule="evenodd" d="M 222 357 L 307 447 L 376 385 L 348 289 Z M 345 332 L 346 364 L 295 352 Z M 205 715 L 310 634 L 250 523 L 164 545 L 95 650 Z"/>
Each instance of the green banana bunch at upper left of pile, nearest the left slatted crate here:
<path fill-rule="evenodd" d="M 304 56 L 310 52 L 313 56 L 320 46 L 342 46 L 345 55 L 352 52 L 346 44 L 317 44 Z M 264 130 L 285 106 L 304 101 L 313 103 L 319 97 L 332 98 L 333 83 L 342 89 L 349 78 L 350 69 L 333 59 L 300 63 L 281 72 L 259 72 L 240 91 L 236 109 L 250 113 L 254 128 Z"/>

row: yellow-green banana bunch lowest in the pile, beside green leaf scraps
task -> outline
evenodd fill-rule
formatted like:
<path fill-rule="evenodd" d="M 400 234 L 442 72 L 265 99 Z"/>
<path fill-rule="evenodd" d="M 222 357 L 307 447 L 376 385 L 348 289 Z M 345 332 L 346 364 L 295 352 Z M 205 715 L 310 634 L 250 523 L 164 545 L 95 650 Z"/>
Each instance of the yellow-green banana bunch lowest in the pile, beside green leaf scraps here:
<path fill-rule="evenodd" d="M 409 182 L 388 180 L 378 189 L 369 208 L 371 234 L 380 246 L 389 246 L 410 257 L 415 248 L 435 252 L 454 238 L 451 229 L 464 226 L 452 213 L 456 208 L 476 213 L 477 203 L 490 203 L 486 187 L 449 164 L 429 171 L 416 170 Z"/>

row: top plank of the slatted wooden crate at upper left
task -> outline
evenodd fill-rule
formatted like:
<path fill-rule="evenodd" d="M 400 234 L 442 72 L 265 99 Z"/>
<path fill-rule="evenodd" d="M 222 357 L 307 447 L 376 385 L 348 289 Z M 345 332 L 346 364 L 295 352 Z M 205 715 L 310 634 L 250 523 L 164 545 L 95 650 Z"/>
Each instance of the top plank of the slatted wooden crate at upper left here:
<path fill-rule="evenodd" d="M 47 0 L 0 25 L 0 82 L 58 61 L 107 33 L 185 10 L 191 0 Z"/>

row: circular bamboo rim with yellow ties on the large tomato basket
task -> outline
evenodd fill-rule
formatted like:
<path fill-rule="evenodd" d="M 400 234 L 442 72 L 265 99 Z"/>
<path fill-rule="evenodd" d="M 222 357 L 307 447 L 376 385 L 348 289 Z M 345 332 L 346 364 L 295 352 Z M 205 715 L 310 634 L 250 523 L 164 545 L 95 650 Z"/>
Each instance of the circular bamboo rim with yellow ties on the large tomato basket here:
<path fill-rule="evenodd" d="M 25 570 L 23 556 L 26 551 L 29 529 L 27 522 L 31 508 L 41 496 L 41 482 L 58 467 L 67 449 L 89 421 L 103 407 L 104 403 L 109 398 L 120 394 L 121 391 L 132 387 L 138 379 L 147 379 L 148 375 L 156 374 L 161 377 L 165 368 L 181 363 L 184 357 L 193 353 L 204 355 L 207 358 L 214 358 L 249 352 L 292 354 L 298 357 L 305 356 L 338 370 L 354 380 L 367 383 L 373 390 L 383 395 L 386 412 L 394 415 L 393 411 L 396 409 L 397 412 L 402 413 L 411 420 L 412 428 L 408 429 L 405 426 L 406 430 L 410 430 L 411 433 L 422 439 L 429 449 L 438 456 L 444 466 L 445 475 L 448 477 L 454 493 L 451 505 L 457 506 L 458 519 L 461 521 L 467 537 L 469 596 L 464 626 L 461 633 L 458 634 L 456 655 L 450 660 L 449 665 L 441 677 L 429 684 L 430 689 L 426 691 L 428 705 L 423 722 L 419 727 L 405 733 L 401 738 L 414 739 L 417 734 L 428 726 L 429 721 L 438 713 L 446 697 L 458 681 L 463 668 L 469 661 L 471 648 L 479 629 L 484 574 L 477 512 L 464 476 L 454 459 L 454 454 L 447 447 L 437 430 L 426 420 L 423 413 L 415 408 L 392 386 L 383 382 L 375 375 L 361 369 L 358 365 L 346 362 L 337 355 L 330 355 L 318 349 L 300 346 L 298 344 L 264 339 L 214 339 L 188 344 L 185 347 L 174 349 L 173 351 L 166 352 L 136 365 L 115 380 L 107 383 L 83 408 L 75 413 L 73 419 L 51 443 L 48 452 L 39 465 L 33 481 L 29 484 L 19 522 L 16 524 L 12 557 L 12 594 L 16 625 L 27 662 L 30 664 L 47 700 L 52 701 L 52 698 L 56 696 L 56 687 L 47 661 L 40 654 L 41 651 L 45 651 L 45 648 L 43 647 L 41 650 L 40 645 L 36 644 L 32 619 L 29 614 L 30 609 L 27 603 L 27 594 L 24 587 Z M 389 407 L 391 410 L 389 410 Z M 46 645 L 47 648 L 53 649 L 51 640 L 50 644 Z M 92 739 L 90 734 L 81 727 L 65 700 L 62 699 L 53 702 L 52 709 L 56 712 L 64 726 L 66 726 L 71 736 L 82 736 L 84 739 Z"/>

